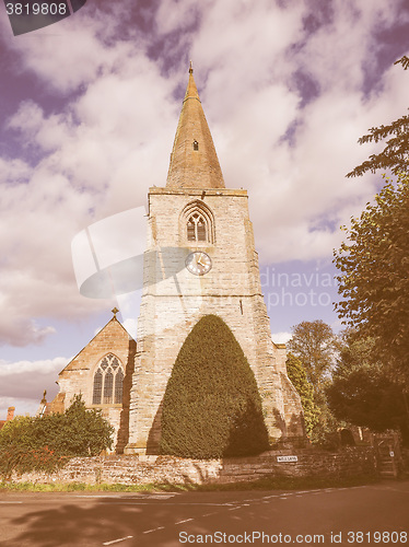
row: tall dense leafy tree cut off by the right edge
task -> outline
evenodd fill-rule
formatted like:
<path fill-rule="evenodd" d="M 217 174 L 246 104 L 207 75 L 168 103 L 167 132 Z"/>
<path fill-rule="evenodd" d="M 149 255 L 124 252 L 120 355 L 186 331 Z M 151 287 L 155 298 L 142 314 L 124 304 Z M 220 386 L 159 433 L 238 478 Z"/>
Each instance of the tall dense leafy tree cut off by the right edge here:
<path fill-rule="evenodd" d="M 336 311 L 355 338 L 373 338 L 373 351 L 409 385 L 409 179 L 386 182 L 347 242 L 335 251 L 340 270 Z"/>

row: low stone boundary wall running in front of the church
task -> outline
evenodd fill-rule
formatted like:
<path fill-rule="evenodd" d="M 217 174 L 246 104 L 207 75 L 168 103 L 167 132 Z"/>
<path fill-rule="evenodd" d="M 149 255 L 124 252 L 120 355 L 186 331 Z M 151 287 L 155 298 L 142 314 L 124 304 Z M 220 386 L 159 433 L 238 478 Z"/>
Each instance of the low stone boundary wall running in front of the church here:
<path fill-rule="evenodd" d="M 296 456 L 296 462 L 279 462 L 279 456 Z M 373 449 L 348 447 L 338 452 L 306 449 L 271 451 L 254 457 L 210 461 L 174 456 L 75 457 L 56 474 L 31 473 L 13 477 L 13 480 L 89 485 L 226 484 L 257 480 L 266 476 L 338 478 L 375 474 Z"/>

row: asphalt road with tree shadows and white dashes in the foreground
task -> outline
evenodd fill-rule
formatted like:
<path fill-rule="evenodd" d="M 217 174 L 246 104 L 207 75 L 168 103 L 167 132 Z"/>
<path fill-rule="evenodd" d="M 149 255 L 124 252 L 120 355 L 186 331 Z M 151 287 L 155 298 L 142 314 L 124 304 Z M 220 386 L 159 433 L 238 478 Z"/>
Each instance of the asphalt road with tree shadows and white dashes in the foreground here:
<path fill-rule="evenodd" d="M 1 492 L 0 545 L 408 545 L 409 481 L 307 491 Z"/>

